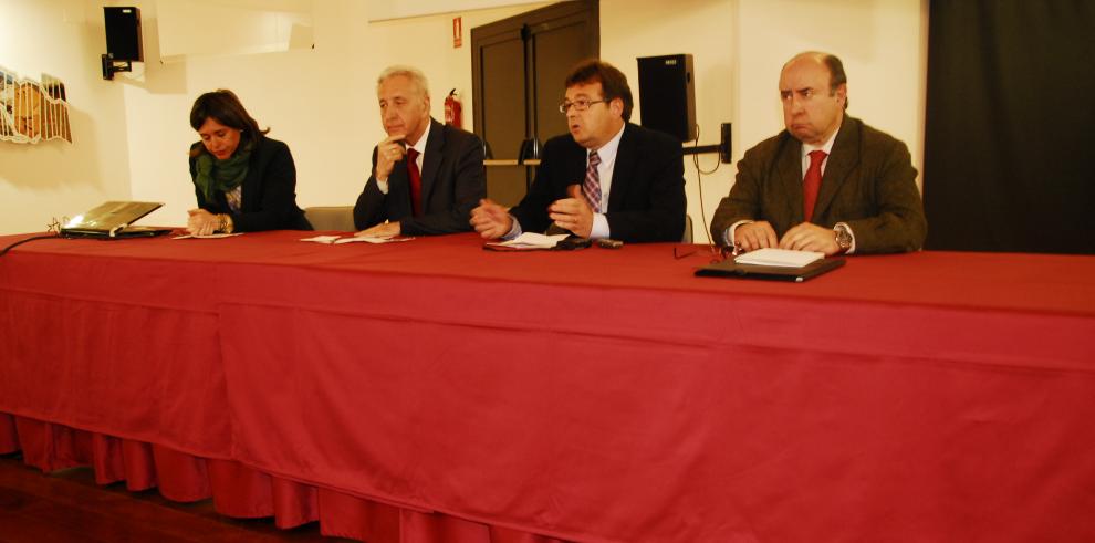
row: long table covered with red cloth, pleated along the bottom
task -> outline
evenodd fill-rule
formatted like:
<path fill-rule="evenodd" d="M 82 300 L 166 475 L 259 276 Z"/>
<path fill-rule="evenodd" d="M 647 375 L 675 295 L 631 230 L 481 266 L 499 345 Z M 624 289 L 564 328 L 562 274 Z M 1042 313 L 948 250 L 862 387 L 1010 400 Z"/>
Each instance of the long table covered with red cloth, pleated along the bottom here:
<path fill-rule="evenodd" d="M 1095 540 L 1095 258 L 304 236 L 12 250 L 0 451 L 368 541 Z"/>

